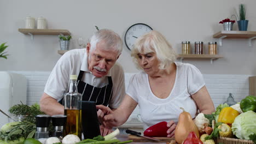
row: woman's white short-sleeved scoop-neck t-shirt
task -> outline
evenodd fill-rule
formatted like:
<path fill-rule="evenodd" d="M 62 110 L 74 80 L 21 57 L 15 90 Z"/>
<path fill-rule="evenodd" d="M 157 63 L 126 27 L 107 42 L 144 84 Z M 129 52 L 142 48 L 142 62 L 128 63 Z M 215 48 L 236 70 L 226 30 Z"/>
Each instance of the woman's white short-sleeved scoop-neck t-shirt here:
<path fill-rule="evenodd" d="M 131 77 L 126 94 L 135 100 L 141 112 L 144 129 L 162 122 L 178 122 L 180 107 L 194 118 L 197 112 L 195 101 L 191 98 L 205 81 L 199 69 L 188 63 L 175 62 L 176 79 L 170 95 L 165 99 L 156 97 L 150 89 L 148 75 L 144 72 Z"/>

